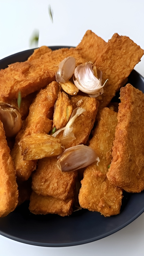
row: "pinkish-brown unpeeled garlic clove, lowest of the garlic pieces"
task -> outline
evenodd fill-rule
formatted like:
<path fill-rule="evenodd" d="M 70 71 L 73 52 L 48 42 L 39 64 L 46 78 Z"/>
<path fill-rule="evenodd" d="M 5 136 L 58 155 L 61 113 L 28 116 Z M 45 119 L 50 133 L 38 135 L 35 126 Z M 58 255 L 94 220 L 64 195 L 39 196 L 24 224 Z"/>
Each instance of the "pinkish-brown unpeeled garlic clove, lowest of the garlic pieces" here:
<path fill-rule="evenodd" d="M 96 152 L 85 145 L 67 148 L 58 156 L 58 166 L 62 172 L 76 171 L 100 159 Z"/>

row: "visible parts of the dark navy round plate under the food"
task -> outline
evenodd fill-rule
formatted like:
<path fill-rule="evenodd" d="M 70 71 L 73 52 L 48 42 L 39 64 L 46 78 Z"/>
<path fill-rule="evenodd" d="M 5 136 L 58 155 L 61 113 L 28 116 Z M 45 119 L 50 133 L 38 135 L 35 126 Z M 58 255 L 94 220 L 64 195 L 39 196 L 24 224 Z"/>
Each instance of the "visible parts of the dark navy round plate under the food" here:
<path fill-rule="evenodd" d="M 51 47 L 52 50 L 61 47 Z M 25 61 L 33 49 L 13 54 L 0 60 L 0 69 L 13 62 Z M 129 83 L 144 92 L 144 78 L 133 70 Z M 0 218 L 0 234 L 10 239 L 40 246 L 61 247 L 81 245 L 109 236 L 130 224 L 144 212 L 144 191 L 137 194 L 124 192 L 119 215 L 105 218 L 99 212 L 82 209 L 72 215 L 34 215 L 29 202 Z"/>

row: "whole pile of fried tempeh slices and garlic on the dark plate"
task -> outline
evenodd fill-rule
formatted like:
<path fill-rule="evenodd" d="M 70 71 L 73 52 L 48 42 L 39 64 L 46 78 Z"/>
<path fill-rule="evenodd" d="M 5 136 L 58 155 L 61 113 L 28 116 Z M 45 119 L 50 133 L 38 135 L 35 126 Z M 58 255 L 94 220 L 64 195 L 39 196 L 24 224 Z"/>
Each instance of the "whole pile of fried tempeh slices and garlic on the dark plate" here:
<path fill-rule="evenodd" d="M 125 86 L 143 53 L 88 30 L 0 70 L 0 217 L 26 200 L 34 214 L 111 216 L 123 190 L 144 190 L 144 94 Z"/>

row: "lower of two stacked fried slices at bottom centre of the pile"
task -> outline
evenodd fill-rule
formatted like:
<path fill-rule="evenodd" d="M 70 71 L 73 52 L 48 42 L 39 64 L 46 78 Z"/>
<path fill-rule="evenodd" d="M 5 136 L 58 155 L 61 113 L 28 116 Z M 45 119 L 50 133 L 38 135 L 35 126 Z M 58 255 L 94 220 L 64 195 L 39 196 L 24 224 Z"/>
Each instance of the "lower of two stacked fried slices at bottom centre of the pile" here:
<path fill-rule="evenodd" d="M 34 191 L 30 197 L 29 210 L 34 214 L 70 215 L 73 212 L 73 199 L 61 200 L 54 197 L 37 195 Z"/>

